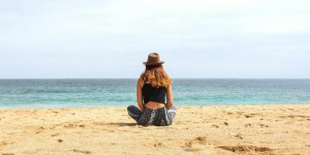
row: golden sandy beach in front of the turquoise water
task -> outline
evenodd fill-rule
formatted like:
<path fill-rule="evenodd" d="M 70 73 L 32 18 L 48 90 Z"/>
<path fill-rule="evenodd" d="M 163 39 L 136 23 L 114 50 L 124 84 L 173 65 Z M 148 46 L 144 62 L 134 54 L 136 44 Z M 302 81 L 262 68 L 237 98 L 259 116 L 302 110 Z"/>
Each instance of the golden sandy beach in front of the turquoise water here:
<path fill-rule="evenodd" d="M 310 154 L 310 104 L 177 108 L 168 127 L 125 108 L 1 109 L 0 154 Z"/>

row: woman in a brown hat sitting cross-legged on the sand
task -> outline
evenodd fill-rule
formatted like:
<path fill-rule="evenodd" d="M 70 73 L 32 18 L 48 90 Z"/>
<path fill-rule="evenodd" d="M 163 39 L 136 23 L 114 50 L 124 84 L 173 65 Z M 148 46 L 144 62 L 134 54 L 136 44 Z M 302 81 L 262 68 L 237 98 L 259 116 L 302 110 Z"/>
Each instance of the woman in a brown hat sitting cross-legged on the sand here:
<path fill-rule="evenodd" d="M 172 80 L 163 70 L 163 63 L 156 53 L 149 54 L 147 62 L 144 62 L 145 71 L 137 82 L 137 104 L 140 109 L 137 106 L 127 108 L 129 116 L 140 125 L 168 126 L 175 117 Z"/>

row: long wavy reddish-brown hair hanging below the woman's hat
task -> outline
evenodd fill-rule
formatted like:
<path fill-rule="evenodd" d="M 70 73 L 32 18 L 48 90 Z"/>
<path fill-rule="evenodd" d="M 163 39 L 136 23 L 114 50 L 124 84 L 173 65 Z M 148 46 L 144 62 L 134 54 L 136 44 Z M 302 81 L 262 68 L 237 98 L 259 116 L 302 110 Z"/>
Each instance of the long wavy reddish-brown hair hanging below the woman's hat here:
<path fill-rule="evenodd" d="M 144 85 L 144 82 L 149 83 L 152 87 L 166 87 L 168 88 L 171 85 L 172 79 L 163 70 L 163 66 L 145 66 L 144 72 L 140 75 L 141 85 Z"/>

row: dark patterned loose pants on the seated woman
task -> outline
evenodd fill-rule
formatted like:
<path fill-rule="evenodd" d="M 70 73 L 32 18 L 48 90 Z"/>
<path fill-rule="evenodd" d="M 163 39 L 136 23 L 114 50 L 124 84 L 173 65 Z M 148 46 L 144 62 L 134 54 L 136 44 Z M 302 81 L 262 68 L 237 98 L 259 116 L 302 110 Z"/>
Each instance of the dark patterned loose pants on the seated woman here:
<path fill-rule="evenodd" d="M 174 106 L 169 110 L 166 109 L 166 106 L 159 109 L 148 109 L 145 107 L 144 111 L 141 111 L 137 106 L 128 106 L 127 111 L 129 116 L 136 120 L 139 125 L 156 126 L 171 125 L 177 113 Z"/>

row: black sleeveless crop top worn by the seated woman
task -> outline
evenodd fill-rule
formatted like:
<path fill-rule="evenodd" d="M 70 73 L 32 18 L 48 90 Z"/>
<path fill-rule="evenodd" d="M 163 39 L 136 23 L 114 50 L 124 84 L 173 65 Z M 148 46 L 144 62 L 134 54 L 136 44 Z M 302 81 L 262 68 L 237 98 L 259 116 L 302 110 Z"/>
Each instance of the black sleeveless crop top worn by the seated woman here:
<path fill-rule="evenodd" d="M 166 87 L 152 87 L 149 83 L 144 82 L 142 87 L 142 96 L 144 104 L 149 101 L 154 101 L 162 104 L 165 103 L 167 89 Z"/>

